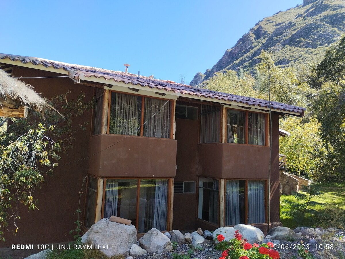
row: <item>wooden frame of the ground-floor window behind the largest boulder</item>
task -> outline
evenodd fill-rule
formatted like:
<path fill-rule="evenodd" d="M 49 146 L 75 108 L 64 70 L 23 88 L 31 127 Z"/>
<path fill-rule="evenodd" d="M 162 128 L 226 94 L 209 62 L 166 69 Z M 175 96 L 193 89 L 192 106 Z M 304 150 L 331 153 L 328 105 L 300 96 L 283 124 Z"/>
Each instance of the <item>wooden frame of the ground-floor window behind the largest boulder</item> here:
<path fill-rule="evenodd" d="M 167 179 L 168 180 L 168 196 L 167 196 L 167 231 L 171 231 L 172 229 L 172 215 L 171 215 L 171 186 L 173 178 L 164 178 L 164 177 L 147 177 L 147 178 L 137 178 L 137 177 L 104 177 L 103 181 L 103 194 L 102 194 L 102 211 L 101 211 L 101 219 L 104 218 L 104 203 L 105 203 L 105 194 L 106 194 L 106 182 L 107 179 L 129 179 L 129 180 L 137 180 L 137 207 L 136 207 L 136 223 L 135 228 L 138 232 L 138 225 L 139 225 L 139 199 L 140 199 L 140 180 L 156 180 L 156 179 Z M 174 188 L 172 188 L 174 189 Z M 174 190 L 172 190 L 174 191 Z M 115 216 L 115 215 L 114 215 Z M 165 231 L 162 231 L 165 232 Z M 145 234 L 145 233 L 138 233 L 138 235 Z"/>

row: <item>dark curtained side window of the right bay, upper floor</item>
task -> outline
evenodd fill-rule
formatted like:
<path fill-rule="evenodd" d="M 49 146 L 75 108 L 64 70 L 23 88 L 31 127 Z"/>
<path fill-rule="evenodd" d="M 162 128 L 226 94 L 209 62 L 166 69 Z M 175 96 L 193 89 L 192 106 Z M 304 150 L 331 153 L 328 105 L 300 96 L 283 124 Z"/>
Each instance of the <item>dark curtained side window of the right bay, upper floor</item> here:
<path fill-rule="evenodd" d="M 200 143 L 220 142 L 220 107 L 201 105 Z"/>

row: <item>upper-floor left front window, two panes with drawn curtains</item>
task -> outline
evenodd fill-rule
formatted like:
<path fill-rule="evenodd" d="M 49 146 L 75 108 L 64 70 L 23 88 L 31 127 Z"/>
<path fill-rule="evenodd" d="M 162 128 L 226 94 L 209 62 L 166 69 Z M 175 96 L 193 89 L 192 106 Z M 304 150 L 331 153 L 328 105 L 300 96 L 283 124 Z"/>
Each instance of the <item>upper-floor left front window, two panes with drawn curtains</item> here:
<path fill-rule="evenodd" d="M 111 92 L 109 133 L 170 138 L 171 101 Z"/>

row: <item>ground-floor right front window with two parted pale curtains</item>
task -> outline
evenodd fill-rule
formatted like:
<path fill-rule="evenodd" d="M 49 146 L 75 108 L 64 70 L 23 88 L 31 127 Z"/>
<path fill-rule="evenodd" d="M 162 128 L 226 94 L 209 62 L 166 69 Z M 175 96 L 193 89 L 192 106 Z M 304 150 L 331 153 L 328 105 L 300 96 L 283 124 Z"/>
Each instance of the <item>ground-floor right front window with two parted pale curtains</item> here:
<path fill-rule="evenodd" d="M 225 225 L 265 223 L 265 186 L 265 180 L 227 180 Z"/>

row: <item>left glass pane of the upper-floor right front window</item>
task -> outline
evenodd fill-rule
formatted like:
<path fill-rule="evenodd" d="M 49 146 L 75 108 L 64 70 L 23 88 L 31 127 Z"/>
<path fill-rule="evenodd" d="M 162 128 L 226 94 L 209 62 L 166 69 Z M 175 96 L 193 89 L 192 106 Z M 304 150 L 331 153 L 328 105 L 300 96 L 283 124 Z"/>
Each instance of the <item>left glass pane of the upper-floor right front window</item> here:
<path fill-rule="evenodd" d="M 244 111 L 227 110 L 227 142 L 245 144 Z"/>

